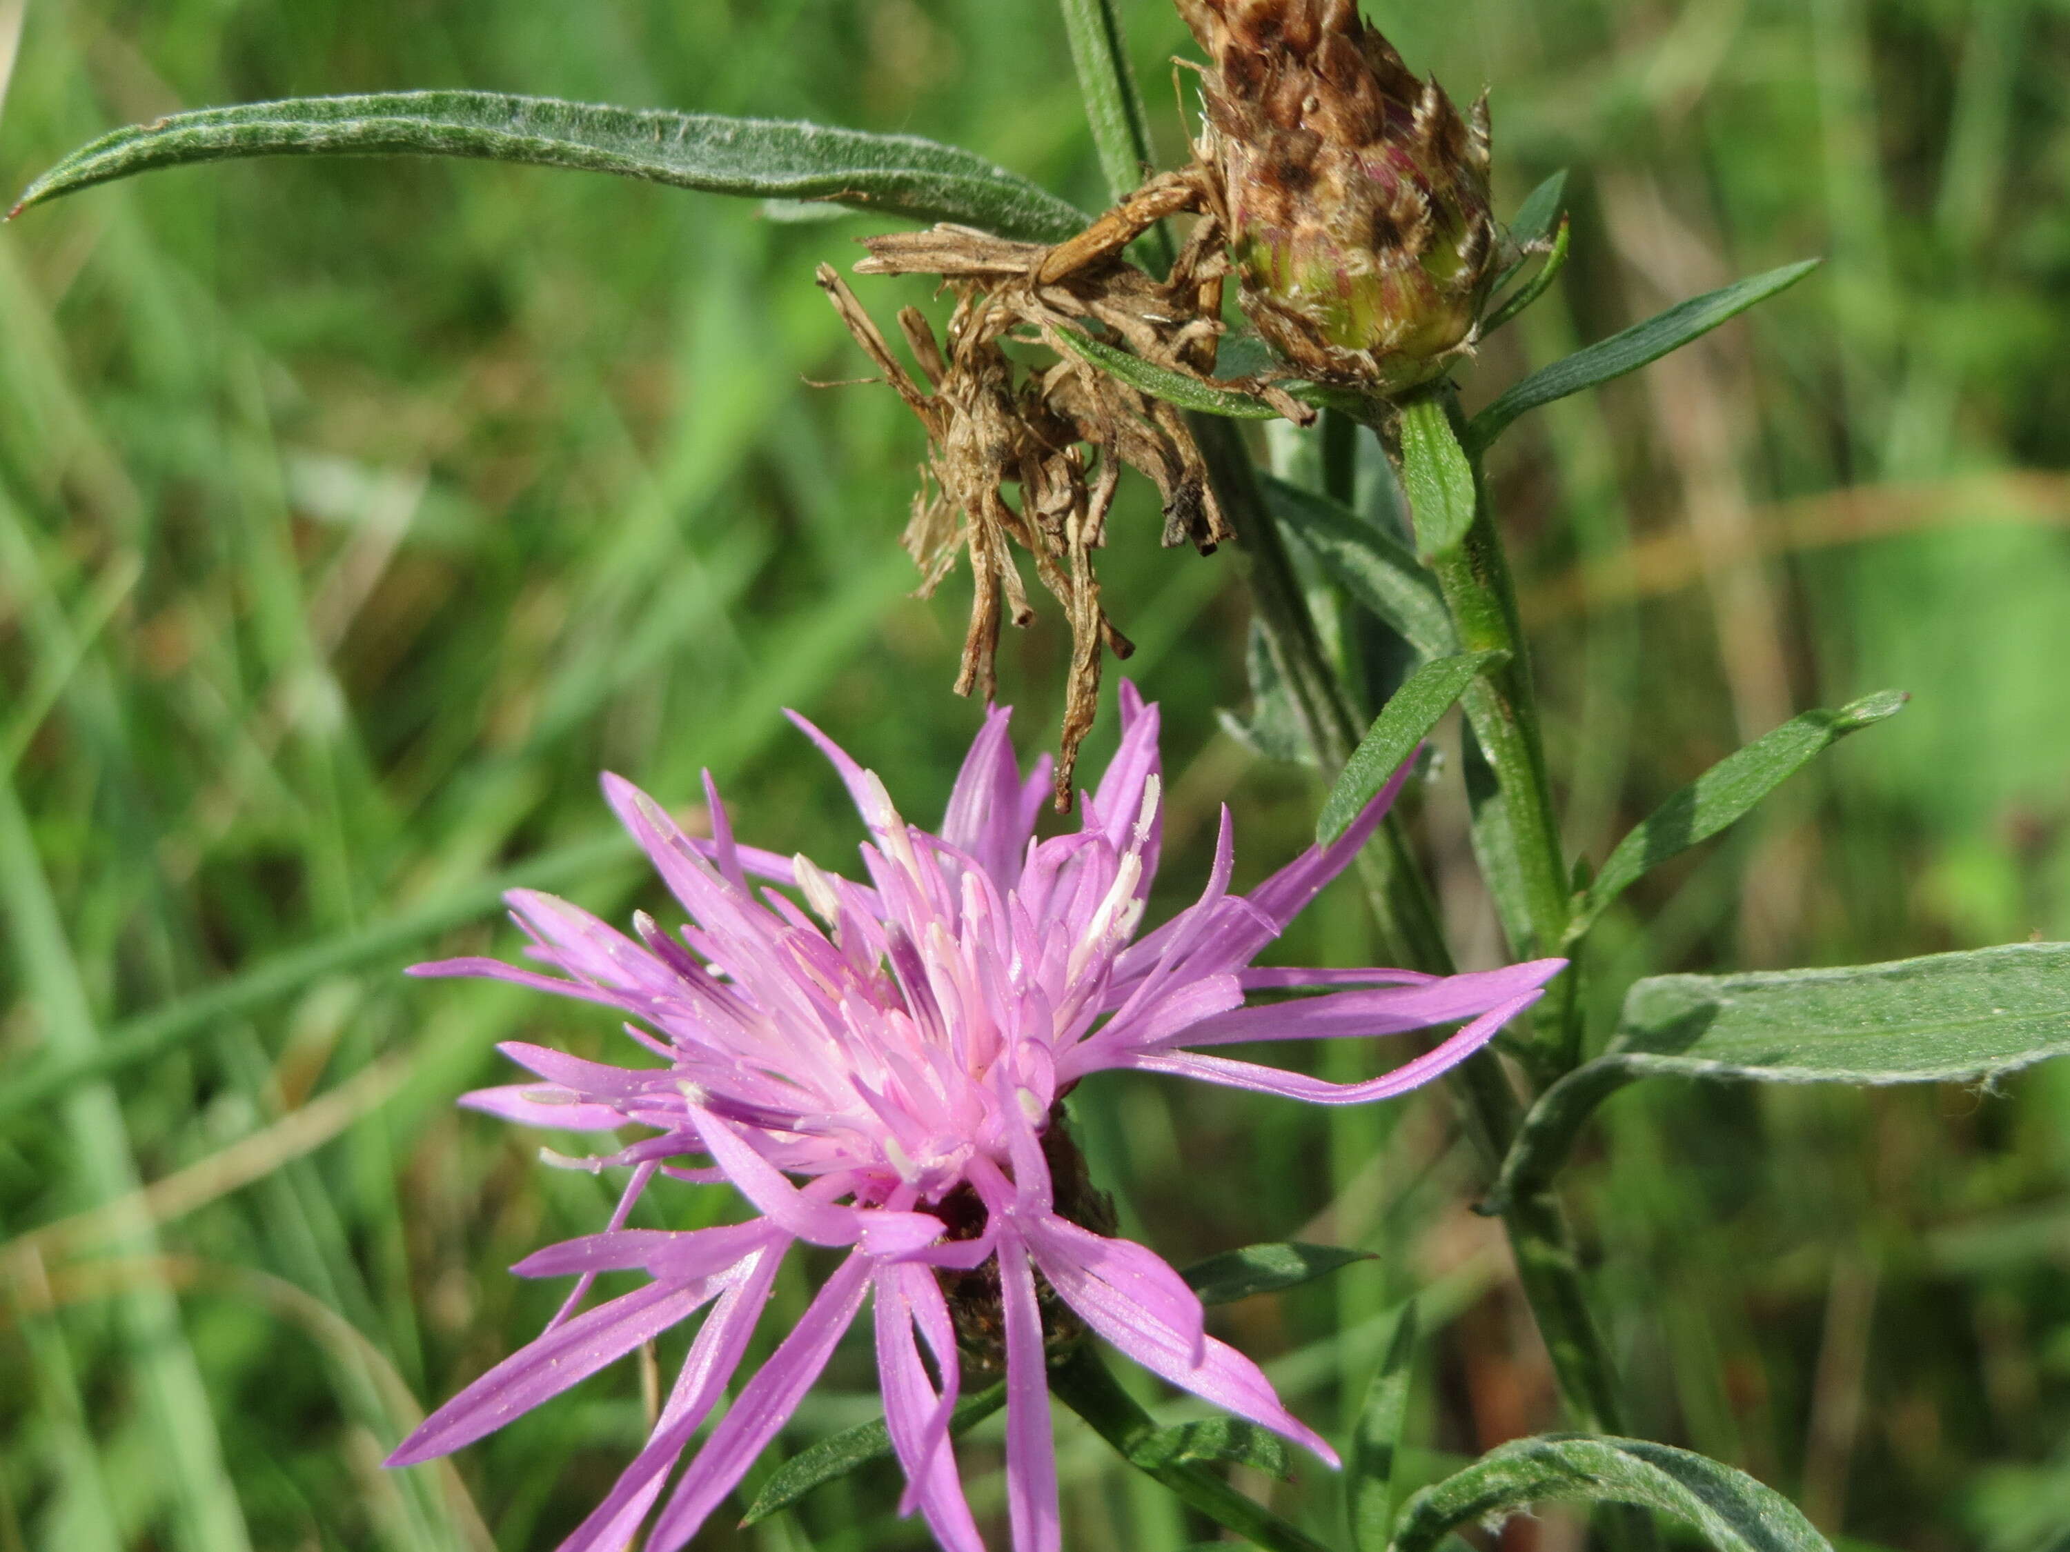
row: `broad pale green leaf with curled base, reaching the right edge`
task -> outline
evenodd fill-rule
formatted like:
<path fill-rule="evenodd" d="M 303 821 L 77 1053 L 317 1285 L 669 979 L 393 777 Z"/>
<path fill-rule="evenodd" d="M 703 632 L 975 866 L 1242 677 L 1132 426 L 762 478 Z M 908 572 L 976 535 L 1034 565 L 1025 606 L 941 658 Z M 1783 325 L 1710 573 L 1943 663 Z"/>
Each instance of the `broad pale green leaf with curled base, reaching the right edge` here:
<path fill-rule="evenodd" d="M 1532 1105 L 1492 1204 L 1550 1182 L 1596 1105 L 1637 1078 L 1973 1082 L 2066 1053 L 2070 944 L 1654 977 L 1625 993 L 1610 1047 Z"/>

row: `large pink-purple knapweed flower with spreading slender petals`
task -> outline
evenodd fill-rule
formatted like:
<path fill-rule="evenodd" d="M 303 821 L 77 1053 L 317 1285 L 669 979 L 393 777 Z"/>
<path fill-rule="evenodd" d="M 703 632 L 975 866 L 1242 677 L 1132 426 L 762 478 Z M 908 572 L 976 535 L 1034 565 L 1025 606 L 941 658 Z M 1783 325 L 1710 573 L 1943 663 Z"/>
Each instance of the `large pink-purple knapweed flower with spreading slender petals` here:
<path fill-rule="evenodd" d="M 1159 853 L 1157 710 L 1122 691 L 1122 741 L 1076 834 L 1035 840 L 1047 759 L 1023 778 L 1004 710 L 987 714 L 938 834 L 811 724 L 869 828 L 869 884 L 735 842 L 706 778 L 712 836 L 685 836 L 617 776 L 604 793 L 691 917 L 638 915 L 635 937 L 549 894 L 509 896 L 540 975 L 489 958 L 422 964 L 631 1014 L 650 1066 L 538 1045 L 503 1053 L 536 1082 L 464 1103 L 511 1122 L 648 1136 L 590 1161 L 631 1175 L 602 1233 L 518 1262 L 575 1277 L 546 1333 L 439 1407 L 391 1465 L 468 1444 L 706 1310 L 652 1434 L 561 1552 L 627 1546 L 654 1504 L 650 1552 L 681 1548 L 791 1417 L 865 1300 L 884 1417 L 919 1509 L 950 1552 L 981 1552 L 948 1440 L 958 1372 L 1006 1372 L 1006 1486 L 1016 1552 L 1060 1546 L 1047 1366 L 1087 1333 L 1172 1384 L 1335 1463 L 1265 1374 L 1209 1337 L 1201 1302 L 1143 1246 L 1110 1237 L 1058 1099 L 1103 1068 L 1203 1078 L 1348 1105 L 1414 1088 L 1528 1008 L 1563 960 L 1478 975 L 1252 968 L 1379 824 L 1401 776 L 1341 840 L 1230 894 L 1230 815 L 1199 902 L 1136 935 Z M 774 888 L 803 898 L 799 906 Z M 807 908 L 811 915 L 807 915 Z M 818 917 L 818 921 L 814 919 Z M 563 979 L 565 977 L 565 979 Z M 1248 991 L 1321 989 L 1246 1006 Z M 1213 1047 L 1466 1026 L 1354 1084 L 1215 1055 Z M 642 1028 L 644 1024 L 644 1028 Z M 685 1157 L 708 1165 L 685 1165 Z M 731 1182 L 753 1217 L 714 1229 L 623 1227 L 658 1177 Z M 793 1244 L 847 1248 L 809 1308 L 662 1490 L 741 1364 Z M 575 1312 L 600 1273 L 644 1287 Z M 927 1357 L 931 1357 L 931 1368 Z"/>

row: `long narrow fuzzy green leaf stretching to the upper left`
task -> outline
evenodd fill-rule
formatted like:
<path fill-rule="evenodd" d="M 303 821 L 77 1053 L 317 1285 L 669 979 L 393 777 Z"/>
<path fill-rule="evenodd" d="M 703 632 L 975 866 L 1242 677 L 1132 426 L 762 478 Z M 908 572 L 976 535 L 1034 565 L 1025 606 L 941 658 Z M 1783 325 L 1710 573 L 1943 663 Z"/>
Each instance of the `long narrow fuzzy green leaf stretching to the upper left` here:
<path fill-rule="evenodd" d="M 130 124 L 81 147 L 29 184 L 14 213 L 135 172 L 261 155 L 530 161 L 712 195 L 824 199 L 915 221 L 963 221 L 1029 242 L 1058 242 L 1087 221 L 1027 178 L 915 135 L 594 108 L 495 91 L 296 97 Z"/>

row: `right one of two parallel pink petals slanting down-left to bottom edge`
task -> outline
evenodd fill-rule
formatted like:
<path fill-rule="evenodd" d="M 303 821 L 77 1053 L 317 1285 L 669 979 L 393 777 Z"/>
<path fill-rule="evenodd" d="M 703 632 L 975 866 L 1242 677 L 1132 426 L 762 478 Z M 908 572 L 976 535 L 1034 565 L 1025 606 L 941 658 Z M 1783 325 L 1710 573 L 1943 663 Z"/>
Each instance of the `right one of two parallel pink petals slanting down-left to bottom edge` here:
<path fill-rule="evenodd" d="M 805 1391 L 820 1378 L 826 1360 L 834 1355 L 840 1333 L 863 1308 L 867 1291 L 869 1258 L 855 1252 L 840 1262 L 840 1271 L 826 1279 L 791 1335 L 768 1355 L 768 1362 L 735 1399 L 733 1411 L 704 1440 L 698 1459 L 675 1484 L 669 1506 L 654 1521 L 648 1552 L 677 1552 L 698 1533 L 718 1500 L 733 1492 L 762 1449 L 776 1438 L 776 1430 L 791 1422 L 797 1403 L 805 1399 Z"/>

